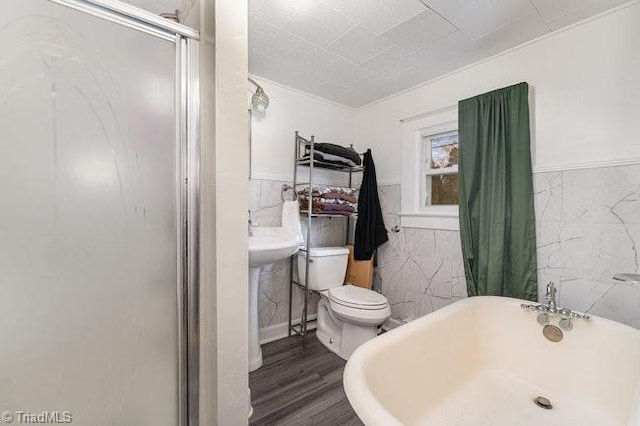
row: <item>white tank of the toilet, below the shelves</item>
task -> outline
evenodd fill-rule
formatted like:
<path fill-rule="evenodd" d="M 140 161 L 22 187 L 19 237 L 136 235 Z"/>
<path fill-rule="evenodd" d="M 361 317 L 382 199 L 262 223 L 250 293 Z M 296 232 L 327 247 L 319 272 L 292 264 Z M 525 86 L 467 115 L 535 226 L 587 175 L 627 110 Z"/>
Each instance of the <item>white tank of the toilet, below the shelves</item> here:
<path fill-rule="evenodd" d="M 349 249 L 346 247 L 314 247 L 310 250 L 309 290 L 323 291 L 344 284 Z M 298 252 L 298 277 L 304 285 L 306 253 Z"/>

